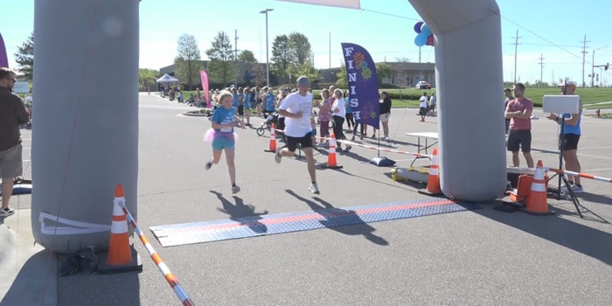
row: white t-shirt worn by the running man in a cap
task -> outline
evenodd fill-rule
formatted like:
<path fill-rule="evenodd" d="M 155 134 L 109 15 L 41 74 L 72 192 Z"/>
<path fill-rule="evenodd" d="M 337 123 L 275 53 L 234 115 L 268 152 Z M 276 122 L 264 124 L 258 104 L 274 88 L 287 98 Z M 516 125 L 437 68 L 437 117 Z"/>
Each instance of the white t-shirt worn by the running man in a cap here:
<path fill-rule="evenodd" d="M 312 132 L 312 126 L 310 125 L 312 94 L 310 94 L 310 92 L 305 96 L 300 95 L 298 91 L 287 95 L 278 109 L 286 110 L 292 114 L 298 111 L 302 112 L 302 117 L 300 118 L 285 118 L 285 135 L 290 137 L 304 137 Z"/>

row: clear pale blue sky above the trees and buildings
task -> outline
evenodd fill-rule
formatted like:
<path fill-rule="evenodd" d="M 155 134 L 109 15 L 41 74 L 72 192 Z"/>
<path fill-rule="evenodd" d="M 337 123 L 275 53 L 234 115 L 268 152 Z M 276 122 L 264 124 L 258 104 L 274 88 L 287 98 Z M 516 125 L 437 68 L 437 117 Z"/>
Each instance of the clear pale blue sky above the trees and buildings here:
<path fill-rule="evenodd" d="M 590 42 L 586 44 L 584 78 L 589 84 L 592 50 L 606 45 L 612 47 L 610 27 L 606 26 L 610 24 L 612 1 L 498 0 L 498 5 L 502 15 L 505 80 L 511 80 L 514 73 L 512 37 L 517 29 L 521 37 L 517 56 L 521 81 L 539 80 L 542 54 L 544 81 L 550 83 L 554 75 L 555 81 L 569 76 L 580 83 L 581 42 L 586 34 Z M 9 65 L 14 67 L 13 53 L 34 28 L 34 1 L 6 1 L 2 7 L 6 13 L 0 22 L 0 33 L 7 45 Z M 419 61 L 412 26 L 420 17 L 407 0 L 361 0 L 361 7 L 362 10 L 353 10 L 276 0 L 143 0 L 140 2 L 140 67 L 159 69 L 170 65 L 176 56 L 177 38 L 183 33 L 196 37 L 201 56 L 206 59 L 204 51 L 218 31 L 228 33 L 233 43 L 236 30 L 237 48 L 251 50 L 258 61 L 265 62 L 265 17 L 259 11 L 267 8 L 274 9 L 269 13 L 270 45 L 277 35 L 302 32 L 312 44 L 317 68 L 329 67 L 330 32 L 332 67 L 340 65 L 341 42 L 362 45 L 375 61 L 395 58 Z M 435 61 L 432 47 L 422 48 L 421 60 Z M 612 48 L 595 52 L 595 64 L 605 62 L 612 62 Z M 603 81 L 612 84 L 612 69 L 603 73 Z"/>

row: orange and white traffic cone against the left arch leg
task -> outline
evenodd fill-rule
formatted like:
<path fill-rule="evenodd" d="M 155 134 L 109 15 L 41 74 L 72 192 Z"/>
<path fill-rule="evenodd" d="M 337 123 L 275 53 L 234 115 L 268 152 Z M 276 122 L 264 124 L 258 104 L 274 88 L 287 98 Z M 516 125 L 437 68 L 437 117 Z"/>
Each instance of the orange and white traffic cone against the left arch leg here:
<path fill-rule="evenodd" d="M 140 256 L 130 245 L 127 231 L 127 217 L 119 203 L 124 203 L 123 185 L 117 185 L 113 201 L 113 222 L 111 223 L 111 237 L 108 244 L 108 253 L 99 256 L 98 272 L 100 274 L 142 271 L 143 265 Z"/>

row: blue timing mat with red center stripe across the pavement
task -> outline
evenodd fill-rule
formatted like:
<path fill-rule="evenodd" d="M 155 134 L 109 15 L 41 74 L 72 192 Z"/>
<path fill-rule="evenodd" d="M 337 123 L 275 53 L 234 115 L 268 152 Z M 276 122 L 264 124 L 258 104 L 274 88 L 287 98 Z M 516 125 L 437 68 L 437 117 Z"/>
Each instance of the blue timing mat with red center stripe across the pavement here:
<path fill-rule="evenodd" d="M 419 201 L 370 204 L 345 208 L 321 208 L 312 211 L 275 215 L 256 215 L 215 221 L 151 226 L 163 247 L 222 241 L 245 237 L 316 230 L 343 225 L 355 225 L 424 215 L 470 211 L 480 207 L 472 203 L 445 198 Z"/>

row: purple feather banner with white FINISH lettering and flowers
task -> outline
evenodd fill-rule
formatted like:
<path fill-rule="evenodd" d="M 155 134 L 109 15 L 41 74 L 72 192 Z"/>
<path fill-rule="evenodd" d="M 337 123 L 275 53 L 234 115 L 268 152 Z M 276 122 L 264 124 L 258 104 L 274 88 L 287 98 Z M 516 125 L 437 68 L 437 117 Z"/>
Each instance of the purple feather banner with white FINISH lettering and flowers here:
<path fill-rule="evenodd" d="M 370 53 L 360 45 L 341 43 L 355 122 L 379 128 L 378 75 Z"/>

